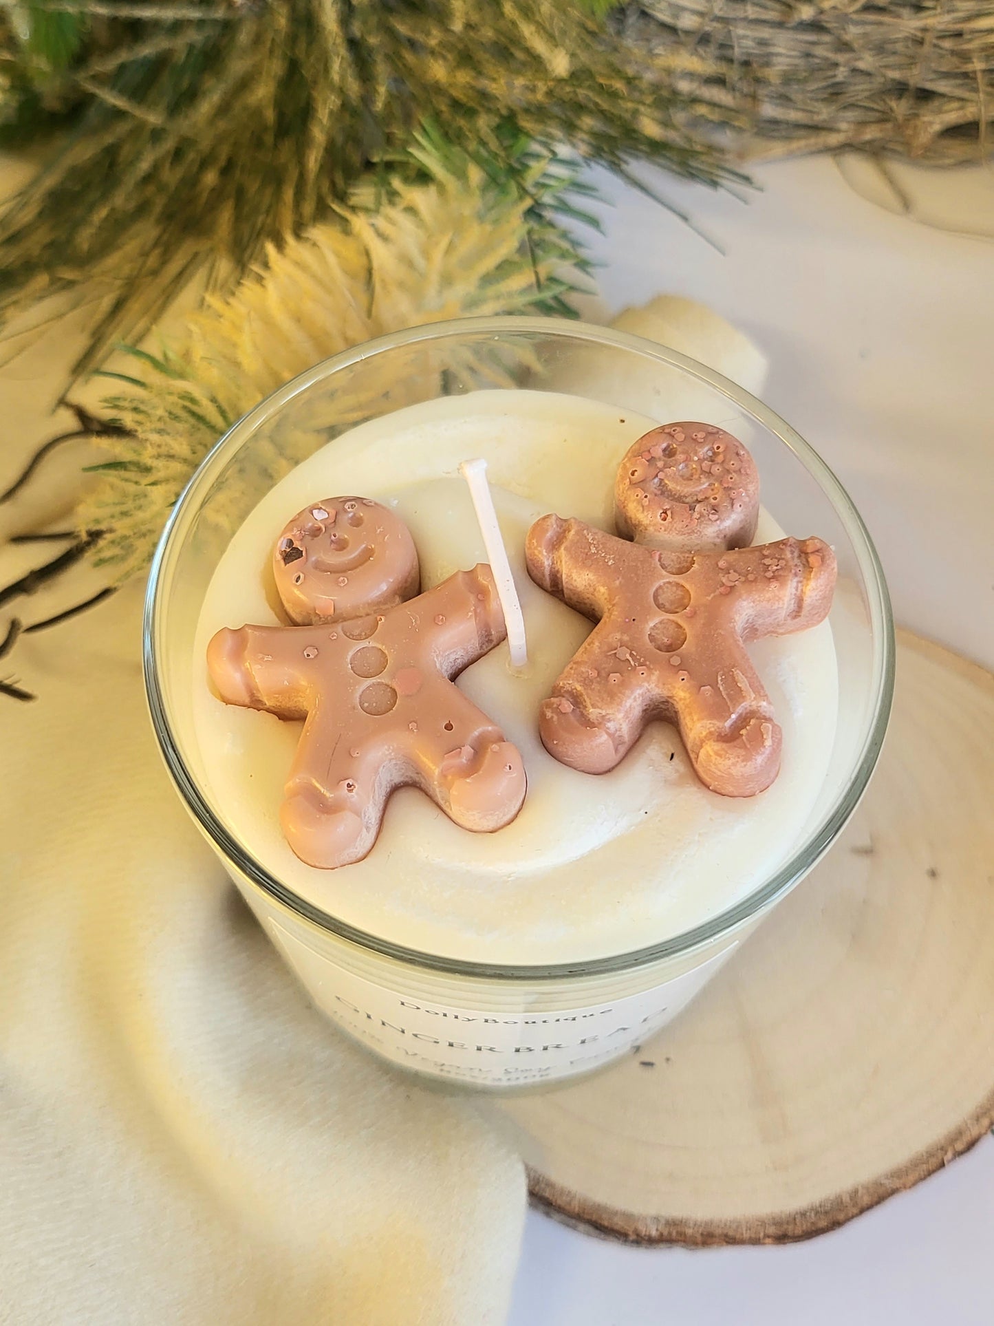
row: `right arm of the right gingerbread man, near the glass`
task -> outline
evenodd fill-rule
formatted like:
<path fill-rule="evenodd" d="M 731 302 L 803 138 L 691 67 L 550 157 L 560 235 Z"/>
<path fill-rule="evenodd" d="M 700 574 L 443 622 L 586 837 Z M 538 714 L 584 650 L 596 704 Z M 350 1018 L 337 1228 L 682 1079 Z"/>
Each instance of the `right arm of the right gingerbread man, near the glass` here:
<path fill-rule="evenodd" d="M 835 553 L 820 538 L 737 548 L 718 558 L 717 569 L 742 640 L 804 631 L 832 605 Z"/>

